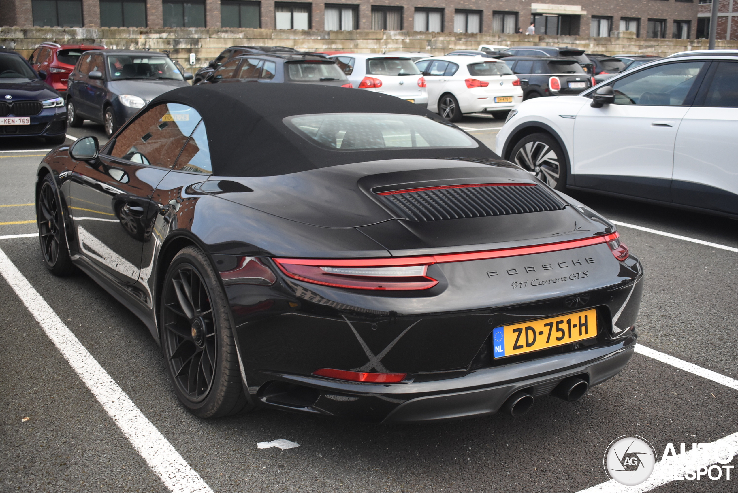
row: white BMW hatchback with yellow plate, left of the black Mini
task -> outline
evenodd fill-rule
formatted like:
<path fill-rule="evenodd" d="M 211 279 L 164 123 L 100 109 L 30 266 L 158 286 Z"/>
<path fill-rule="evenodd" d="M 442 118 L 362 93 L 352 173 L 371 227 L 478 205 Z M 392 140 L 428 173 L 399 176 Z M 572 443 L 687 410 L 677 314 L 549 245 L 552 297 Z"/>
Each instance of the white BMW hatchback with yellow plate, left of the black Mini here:
<path fill-rule="evenodd" d="M 446 55 L 415 62 L 428 86 L 428 109 L 451 122 L 464 113 L 505 118 L 523 101 L 520 79 L 503 62 L 482 56 Z"/>

